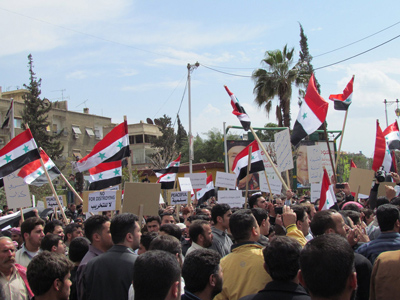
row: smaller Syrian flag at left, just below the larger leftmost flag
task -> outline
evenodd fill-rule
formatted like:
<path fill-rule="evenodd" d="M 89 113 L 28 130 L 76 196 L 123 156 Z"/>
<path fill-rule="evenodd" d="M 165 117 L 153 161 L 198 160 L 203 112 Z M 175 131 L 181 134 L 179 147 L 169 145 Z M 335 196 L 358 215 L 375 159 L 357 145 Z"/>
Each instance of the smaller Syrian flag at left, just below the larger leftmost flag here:
<path fill-rule="evenodd" d="M 60 170 L 56 167 L 54 162 L 50 157 L 44 152 L 43 149 L 40 150 L 40 157 L 43 160 L 43 164 L 49 173 L 51 181 L 56 179 L 60 175 Z M 34 186 L 42 186 L 48 183 L 46 173 L 43 170 L 40 159 L 30 162 L 24 166 L 18 173 L 18 176 L 24 179 L 26 184 Z"/>

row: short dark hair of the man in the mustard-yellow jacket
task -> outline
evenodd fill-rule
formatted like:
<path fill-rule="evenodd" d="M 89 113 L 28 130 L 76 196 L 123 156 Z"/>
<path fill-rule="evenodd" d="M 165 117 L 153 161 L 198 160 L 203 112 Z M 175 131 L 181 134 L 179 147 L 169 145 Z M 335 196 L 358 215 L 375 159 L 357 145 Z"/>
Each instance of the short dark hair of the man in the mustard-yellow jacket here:
<path fill-rule="evenodd" d="M 238 210 L 229 219 L 229 228 L 236 242 L 247 241 L 256 226 L 256 219 L 250 209 Z"/>

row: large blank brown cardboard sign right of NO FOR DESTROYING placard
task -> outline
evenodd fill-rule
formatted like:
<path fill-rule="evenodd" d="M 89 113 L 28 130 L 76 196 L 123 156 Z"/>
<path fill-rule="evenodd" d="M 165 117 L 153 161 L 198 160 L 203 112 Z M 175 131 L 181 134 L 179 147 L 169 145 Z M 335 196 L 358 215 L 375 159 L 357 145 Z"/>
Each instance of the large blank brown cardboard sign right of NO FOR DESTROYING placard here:
<path fill-rule="evenodd" d="M 139 214 L 143 205 L 143 215 L 158 216 L 161 183 L 125 182 L 122 212 Z"/>

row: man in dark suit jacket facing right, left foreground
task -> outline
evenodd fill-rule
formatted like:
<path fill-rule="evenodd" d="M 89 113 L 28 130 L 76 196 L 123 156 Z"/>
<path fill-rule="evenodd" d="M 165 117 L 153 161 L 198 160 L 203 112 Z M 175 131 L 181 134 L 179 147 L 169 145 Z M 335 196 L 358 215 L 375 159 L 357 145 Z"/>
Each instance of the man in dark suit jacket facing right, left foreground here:
<path fill-rule="evenodd" d="M 139 248 L 138 217 L 131 213 L 114 216 L 110 226 L 114 246 L 88 262 L 84 274 L 84 297 L 87 300 L 128 300 Z M 110 284 L 110 278 L 118 284 Z"/>

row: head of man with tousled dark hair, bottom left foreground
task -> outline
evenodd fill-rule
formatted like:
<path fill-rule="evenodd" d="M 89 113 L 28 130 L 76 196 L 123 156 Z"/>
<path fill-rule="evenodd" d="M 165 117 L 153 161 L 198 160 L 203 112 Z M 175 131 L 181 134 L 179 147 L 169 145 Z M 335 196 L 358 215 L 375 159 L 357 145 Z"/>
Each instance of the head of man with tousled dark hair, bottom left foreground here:
<path fill-rule="evenodd" d="M 65 255 L 44 251 L 35 256 L 26 272 L 35 300 L 68 300 L 73 266 Z"/>

